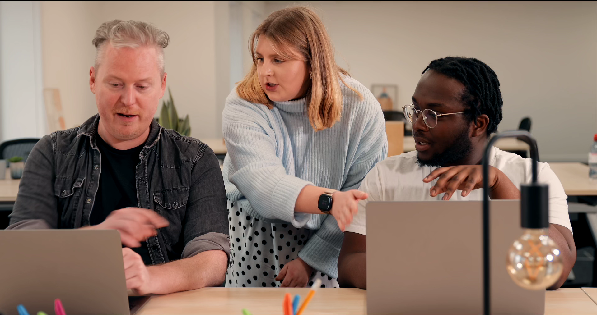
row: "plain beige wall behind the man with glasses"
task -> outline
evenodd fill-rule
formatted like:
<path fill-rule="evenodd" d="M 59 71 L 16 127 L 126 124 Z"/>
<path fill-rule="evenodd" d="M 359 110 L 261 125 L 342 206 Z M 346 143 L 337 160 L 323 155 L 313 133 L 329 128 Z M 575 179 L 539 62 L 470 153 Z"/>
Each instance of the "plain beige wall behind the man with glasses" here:
<path fill-rule="evenodd" d="M 300 1 L 268 1 L 266 13 Z M 542 160 L 584 160 L 597 132 L 597 2 L 315 1 L 337 60 L 410 104 L 429 61 L 478 58 L 497 73 L 498 129 L 531 116 Z M 346 61 L 343 60 L 346 59 Z"/>

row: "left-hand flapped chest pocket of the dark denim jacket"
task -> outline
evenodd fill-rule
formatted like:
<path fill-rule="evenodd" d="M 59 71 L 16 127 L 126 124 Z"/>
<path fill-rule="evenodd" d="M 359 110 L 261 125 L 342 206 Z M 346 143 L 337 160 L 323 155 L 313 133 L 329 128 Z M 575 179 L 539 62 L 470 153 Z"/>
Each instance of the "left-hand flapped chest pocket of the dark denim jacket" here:
<path fill-rule="evenodd" d="M 84 177 L 57 177 L 54 181 L 54 196 L 56 196 L 60 211 L 61 226 L 73 227 L 75 213 L 81 200 Z"/>

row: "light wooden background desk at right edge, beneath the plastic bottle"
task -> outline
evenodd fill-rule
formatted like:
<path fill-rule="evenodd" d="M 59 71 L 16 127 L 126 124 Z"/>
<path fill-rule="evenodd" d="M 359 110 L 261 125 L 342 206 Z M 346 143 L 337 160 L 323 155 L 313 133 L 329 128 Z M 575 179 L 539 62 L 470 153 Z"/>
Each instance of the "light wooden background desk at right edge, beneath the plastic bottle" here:
<path fill-rule="evenodd" d="M 551 162 L 568 196 L 597 196 L 597 182 L 589 180 L 589 166 L 580 162 Z"/>

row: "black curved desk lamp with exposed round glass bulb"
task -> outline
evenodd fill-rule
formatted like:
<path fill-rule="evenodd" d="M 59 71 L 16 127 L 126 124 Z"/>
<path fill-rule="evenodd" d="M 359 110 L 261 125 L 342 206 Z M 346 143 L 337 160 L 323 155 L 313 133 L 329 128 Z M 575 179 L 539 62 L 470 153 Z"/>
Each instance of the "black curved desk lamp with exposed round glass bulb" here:
<path fill-rule="evenodd" d="M 533 181 L 521 184 L 521 227 L 524 234 L 510 247 L 507 273 L 519 286 L 530 290 L 544 290 L 562 274 L 563 263 L 555 242 L 547 237 L 549 228 L 549 190 L 547 184 L 537 183 L 537 141 L 527 131 L 506 131 L 495 135 L 483 155 L 483 313 L 490 314 L 490 224 L 489 224 L 489 153 L 500 138 L 518 138 L 527 143 L 533 159 Z"/>

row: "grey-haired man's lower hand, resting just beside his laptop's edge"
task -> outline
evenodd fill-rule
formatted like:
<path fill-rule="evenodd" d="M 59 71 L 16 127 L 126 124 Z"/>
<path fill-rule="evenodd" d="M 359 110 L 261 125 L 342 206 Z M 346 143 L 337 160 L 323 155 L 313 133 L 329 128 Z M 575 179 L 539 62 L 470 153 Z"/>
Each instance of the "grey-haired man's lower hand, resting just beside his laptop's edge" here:
<path fill-rule="evenodd" d="M 150 288 L 150 274 L 147 266 L 143 263 L 141 255 L 130 248 L 122 248 L 122 259 L 124 260 L 124 276 L 127 279 L 127 289 L 133 289 L 136 294 L 144 295 L 153 293 Z"/>

